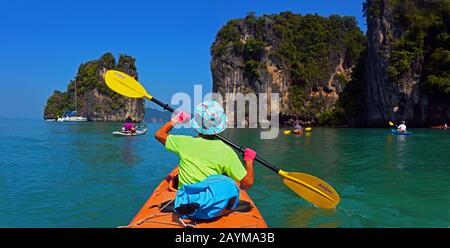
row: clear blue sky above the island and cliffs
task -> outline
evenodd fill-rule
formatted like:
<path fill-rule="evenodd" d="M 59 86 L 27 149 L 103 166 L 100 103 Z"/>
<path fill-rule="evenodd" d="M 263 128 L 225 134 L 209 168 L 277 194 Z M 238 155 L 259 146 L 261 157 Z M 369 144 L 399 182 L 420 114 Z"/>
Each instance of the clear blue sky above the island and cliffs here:
<path fill-rule="evenodd" d="M 169 101 L 212 85 L 209 48 L 230 19 L 250 11 L 355 16 L 363 0 L 0 1 L 0 118 L 42 118 L 48 96 L 65 90 L 80 63 L 105 52 L 137 59 L 140 80 Z"/>

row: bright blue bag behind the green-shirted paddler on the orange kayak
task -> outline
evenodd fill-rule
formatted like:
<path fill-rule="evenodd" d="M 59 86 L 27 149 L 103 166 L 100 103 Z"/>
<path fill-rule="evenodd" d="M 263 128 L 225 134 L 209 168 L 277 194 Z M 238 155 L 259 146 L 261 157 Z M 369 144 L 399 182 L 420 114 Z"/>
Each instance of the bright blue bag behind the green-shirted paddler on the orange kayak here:
<path fill-rule="evenodd" d="M 203 181 L 183 185 L 175 198 L 175 212 L 181 218 L 208 220 L 231 212 L 239 202 L 239 188 L 233 179 L 212 175 Z"/>

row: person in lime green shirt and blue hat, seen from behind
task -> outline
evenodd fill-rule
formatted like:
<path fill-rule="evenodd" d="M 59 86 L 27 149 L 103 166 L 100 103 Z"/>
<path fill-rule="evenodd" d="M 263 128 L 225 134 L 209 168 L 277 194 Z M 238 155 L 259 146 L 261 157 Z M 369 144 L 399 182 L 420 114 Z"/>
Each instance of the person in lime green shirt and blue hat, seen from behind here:
<path fill-rule="evenodd" d="M 169 134 L 175 124 L 189 120 L 188 114 L 180 112 L 155 133 L 155 138 L 167 150 L 180 157 L 178 188 L 211 175 L 225 174 L 238 182 L 241 189 L 249 189 L 254 181 L 256 152 L 245 149 L 243 166 L 233 149 L 215 138 L 214 135 L 223 132 L 227 125 L 222 106 L 216 101 L 206 101 L 195 108 L 190 124 L 199 133 L 198 137 Z"/>

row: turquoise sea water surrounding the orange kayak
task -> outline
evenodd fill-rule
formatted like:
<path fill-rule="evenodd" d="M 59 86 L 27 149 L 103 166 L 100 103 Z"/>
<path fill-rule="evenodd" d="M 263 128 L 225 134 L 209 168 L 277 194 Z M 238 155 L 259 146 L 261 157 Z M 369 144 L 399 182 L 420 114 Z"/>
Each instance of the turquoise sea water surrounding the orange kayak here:
<path fill-rule="evenodd" d="M 114 137 L 115 123 L 0 121 L 0 227 L 126 225 L 177 157 L 153 138 Z M 286 171 L 322 178 L 336 209 L 313 207 L 255 164 L 249 191 L 271 227 L 449 227 L 450 130 L 314 128 L 310 136 L 225 136 Z M 176 133 L 193 134 L 191 130 Z"/>

